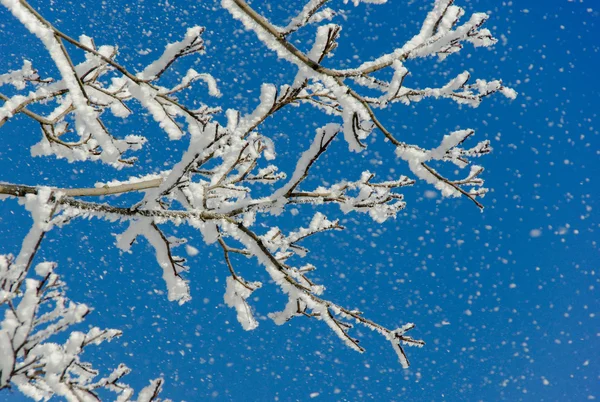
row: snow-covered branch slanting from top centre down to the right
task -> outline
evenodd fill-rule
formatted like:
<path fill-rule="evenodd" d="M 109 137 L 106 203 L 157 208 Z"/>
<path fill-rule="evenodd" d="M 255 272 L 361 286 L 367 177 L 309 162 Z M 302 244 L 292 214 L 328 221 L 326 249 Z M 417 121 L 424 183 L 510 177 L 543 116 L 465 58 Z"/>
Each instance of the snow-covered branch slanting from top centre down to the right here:
<path fill-rule="evenodd" d="M 356 2 L 358 4 L 359 2 Z M 301 101 L 311 103 L 319 109 L 342 118 L 344 126 L 344 138 L 348 142 L 351 151 L 359 152 L 365 148 L 364 140 L 371 134 L 374 128 L 378 128 L 384 136 L 397 147 L 397 154 L 403 155 L 409 165 L 422 164 L 422 169 L 429 174 L 427 177 L 435 177 L 437 183 L 446 183 L 444 188 L 454 188 L 453 181 L 441 176 L 422 160 L 411 159 L 414 152 L 421 152 L 417 145 L 407 144 L 399 140 L 390 132 L 384 124 L 376 117 L 373 107 L 385 108 L 390 103 L 401 101 L 405 104 L 417 102 L 427 97 L 449 98 L 459 104 L 468 104 L 476 107 L 481 101 L 498 92 L 509 99 L 516 97 L 516 92 L 502 84 L 499 80 L 485 81 L 477 80 L 475 84 L 467 85 L 470 74 L 463 73 L 439 89 L 427 88 L 424 90 L 413 90 L 404 87 L 404 81 L 408 75 L 408 69 L 403 62 L 431 55 L 438 55 L 443 60 L 447 55 L 456 53 L 462 48 L 462 42 L 470 42 L 474 46 L 492 46 L 496 40 L 487 29 L 481 26 L 487 20 L 487 15 L 475 13 L 469 21 L 463 25 L 456 26 L 459 19 L 464 15 L 464 10 L 455 6 L 453 0 L 436 0 L 433 10 L 427 15 L 421 31 L 408 41 L 403 47 L 394 52 L 381 56 L 380 58 L 363 63 L 360 67 L 350 70 L 335 70 L 322 66 L 321 58 L 316 59 L 314 54 L 322 54 L 323 49 L 331 51 L 332 45 L 339 35 L 339 26 L 327 24 L 317 29 L 317 36 L 312 50 L 305 54 L 288 41 L 284 35 L 288 30 L 278 30 L 267 19 L 259 15 L 244 0 L 223 0 L 222 5 L 231 15 L 240 20 L 246 29 L 254 31 L 258 38 L 277 55 L 293 64 L 299 69 L 299 78 L 310 80 L 314 84 L 306 88 Z M 309 2 L 301 15 L 309 15 L 310 10 L 320 8 L 324 2 Z M 299 17 L 295 23 L 296 30 L 306 25 L 308 20 Z M 332 29 L 335 28 L 335 34 Z M 382 69 L 392 67 L 393 78 L 385 82 L 372 74 Z M 298 81 L 299 78 L 296 80 Z M 351 78 L 354 82 L 370 89 L 383 92 L 380 98 L 361 95 L 357 90 L 348 86 L 344 78 Z M 479 167 L 474 167 L 479 170 Z M 411 170 L 414 169 L 411 168 Z M 417 175 L 425 178 L 425 174 Z M 432 183 L 434 180 L 427 180 Z M 436 186 L 438 189 L 441 185 Z M 483 195 L 484 191 L 465 192 L 454 188 L 455 191 L 442 191 L 442 195 L 449 196 L 462 194 L 470 198 L 475 204 L 483 208 L 483 205 L 475 200 L 475 197 Z"/>

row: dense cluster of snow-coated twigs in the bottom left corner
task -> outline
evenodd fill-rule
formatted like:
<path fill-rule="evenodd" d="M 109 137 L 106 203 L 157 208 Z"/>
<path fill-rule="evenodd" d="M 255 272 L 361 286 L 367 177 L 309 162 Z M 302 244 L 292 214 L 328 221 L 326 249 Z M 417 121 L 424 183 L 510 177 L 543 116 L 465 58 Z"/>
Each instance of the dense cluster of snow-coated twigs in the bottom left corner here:
<path fill-rule="evenodd" d="M 121 382 L 130 372 L 120 364 L 106 377 L 82 360 L 91 345 L 110 342 L 121 331 L 92 327 L 87 332 L 75 331 L 91 309 L 69 301 L 65 284 L 55 273 L 55 264 L 41 262 L 35 267 L 37 279 L 23 279 L 24 289 L 15 290 L 0 304 L 4 319 L 0 322 L 0 389 L 15 387 L 35 400 L 60 396 L 68 401 L 99 401 L 99 392 L 116 394 L 119 401 L 133 401 L 134 390 Z M 0 255 L 2 275 L 17 270 L 18 257 Z M 53 338 L 68 332 L 63 344 Z M 162 379 L 140 391 L 138 402 L 160 401 Z"/>

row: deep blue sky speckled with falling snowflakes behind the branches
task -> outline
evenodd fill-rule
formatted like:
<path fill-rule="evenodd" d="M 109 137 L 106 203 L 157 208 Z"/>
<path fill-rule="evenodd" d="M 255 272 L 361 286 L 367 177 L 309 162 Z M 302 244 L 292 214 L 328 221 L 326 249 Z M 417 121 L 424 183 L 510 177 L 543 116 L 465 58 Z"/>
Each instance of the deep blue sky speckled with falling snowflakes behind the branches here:
<path fill-rule="evenodd" d="M 267 3 L 271 3 L 268 5 Z M 328 65 L 347 67 L 401 46 L 418 28 L 430 2 L 390 1 L 346 10 L 340 48 Z M 252 4 L 284 24 L 298 2 Z M 163 376 L 164 397 L 173 400 L 573 400 L 600 395 L 598 335 L 598 105 L 600 68 L 599 5 L 567 0 L 457 0 L 467 13 L 485 11 L 499 43 L 492 49 L 467 45 L 458 55 L 407 63 L 407 85 L 441 85 L 469 70 L 473 78 L 502 78 L 519 97 L 499 96 L 479 108 L 427 100 L 396 105 L 380 114 L 396 136 L 433 147 L 458 128 L 490 139 L 494 152 L 479 162 L 492 191 L 485 211 L 466 199 L 441 199 L 425 183 L 404 191 L 407 208 L 379 225 L 368 217 L 342 215 L 347 230 L 305 243 L 306 262 L 326 295 L 388 327 L 414 322 L 411 333 L 427 345 L 407 350 L 412 366 L 403 370 L 389 344 L 355 329 L 367 351 L 345 347 L 321 322 L 295 318 L 282 327 L 266 314 L 280 310 L 284 297 L 272 286 L 254 293 L 260 326 L 244 331 L 223 303 L 227 269 L 220 249 L 204 246 L 183 227 L 167 233 L 188 238 L 200 253 L 189 258 L 192 301 L 169 303 L 160 269 L 145 242 L 122 255 L 114 234 L 124 225 L 81 221 L 55 230 L 44 240 L 42 258 L 57 261 L 71 299 L 95 308 L 85 325 L 113 327 L 124 335 L 84 355 L 99 368 L 124 362 L 126 379 L 138 390 Z M 186 102 L 200 100 L 242 111 L 256 105 L 261 82 L 289 83 L 294 69 L 267 51 L 253 33 L 213 1 L 32 1 L 60 29 L 84 33 L 97 44 L 118 45 L 119 61 L 141 70 L 186 27 L 207 27 L 207 54 L 179 63 L 219 79 L 224 96 L 209 99 L 199 84 Z M 57 76 L 45 49 L 4 9 L 0 9 L 0 72 L 32 60 L 42 76 Z M 314 27 L 299 35 L 308 46 Z M 73 51 L 74 58 L 82 55 Z M 176 75 L 166 77 L 173 80 Z M 3 88 L 4 90 L 4 88 Z M 107 117 L 108 118 L 108 117 Z M 223 121 L 222 117 L 219 117 Z M 0 180 L 58 187 L 93 186 L 169 168 L 187 146 L 169 142 L 151 119 L 107 120 L 120 135 L 150 139 L 134 168 L 115 172 L 97 164 L 32 159 L 36 125 L 24 117 L 0 130 Z M 289 171 L 309 145 L 316 127 L 330 121 L 308 107 L 290 109 L 263 128 L 274 138 Z M 319 161 L 306 187 L 355 180 L 363 170 L 380 178 L 409 174 L 381 135 L 369 149 L 349 154 L 336 140 Z M 372 141 L 371 141 L 372 140 Z M 129 205 L 136 198 L 110 201 Z M 269 220 L 291 230 L 310 220 L 306 207 Z M 0 203 L 0 253 L 18 253 L 30 220 L 14 200 Z M 266 229 L 265 229 L 266 230 Z M 183 249 L 178 250 L 185 254 Z M 267 282 L 253 260 L 237 261 L 248 280 Z M 0 392 L 0 400 L 21 400 Z"/>

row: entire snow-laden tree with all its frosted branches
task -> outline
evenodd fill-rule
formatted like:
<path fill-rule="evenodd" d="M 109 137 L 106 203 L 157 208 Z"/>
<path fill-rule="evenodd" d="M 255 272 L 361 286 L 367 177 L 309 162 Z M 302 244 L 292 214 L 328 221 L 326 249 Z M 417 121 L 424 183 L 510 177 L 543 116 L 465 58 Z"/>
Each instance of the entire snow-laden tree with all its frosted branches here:
<path fill-rule="evenodd" d="M 191 295 L 185 279 L 188 267 L 173 252 L 185 240 L 168 232 L 173 225 L 189 225 L 208 245 L 221 250 L 230 273 L 224 301 L 235 310 L 245 330 L 258 326 L 248 299 L 263 284 L 241 277 L 233 255 L 254 259 L 256 266 L 266 269 L 272 282 L 287 295 L 288 302 L 281 311 L 270 314 L 275 323 L 283 324 L 296 316 L 323 321 L 358 352 L 364 349 L 351 329 L 362 325 L 381 334 L 397 353 L 400 364 L 408 367 L 404 347 L 424 345 L 407 335 L 414 324 L 390 329 L 369 320 L 361 311 L 329 300 L 325 288 L 310 279 L 315 266 L 301 263 L 308 252 L 302 240 L 325 231 L 342 232 L 339 222 L 317 212 L 307 227 L 291 233 L 275 226 L 266 230 L 264 222 L 272 222 L 268 216 L 277 216 L 298 204 L 336 204 L 345 214 L 366 213 L 375 223 L 382 223 L 405 208 L 399 191 L 417 180 L 434 186 L 445 197 L 466 197 L 483 208 L 480 198 L 487 191 L 481 178 L 483 167 L 472 160 L 491 151 L 488 141 L 465 147 L 474 131 L 462 129 L 440 134 L 438 146 L 423 148 L 403 141 L 400 134 L 386 128 L 377 113 L 396 103 L 408 105 L 425 98 L 447 98 L 472 107 L 495 93 L 514 98 L 516 93 L 502 81 L 473 82 L 466 71 L 439 88 L 409 86 L 409 68 L 414 59 L 437 56 L 444 60 L 466 44 L 494 45 L 496 39 L 482 27 L 486 14 L 474 13 L 465 18 L 465 10 L 452 0 L 436 0 L 420 31 L 402 47 L 353 68 L 340 69 L 335 67 L 334 57 L 338 41 L 343 40 L 342 27 L 332 22 L 339 14 L 336 2 L 310 0 L 289 18 L 287 25 L 280 26 L 244 0 L 222 0 L 234 29 L 241 25 L 253 32 L 279 57 L 273 64 L 291 63 L 297 69 L 292 82 L 262 84 L 254 110 L 244 114 L 234 109 L 222 111 L 218 106 L 218 81 L 207 73 L 189 69 L 181 74 L 177 85 L 161 85 L 161 77 L 177 68 L 178 59 L 205 52 L 204 29 L 200 26 L 187 29 L 181 40 L 166 45 L 156 61 L 142 71 L 134 71 L 120 64 L 115 46 L 98 45 L 85 35 L 78 39 L 68 36 L 44 18 L 43 10 L 34 9 L 25 0 L 0 2 L 44 44 L 60 72 L 59 77 L 41 77 L 35 60 L 23 60 L 21 69 L 0 75 L 0 86 L 13 87 L 11 96 L 0 93 L 0 127 L 10 124 L 17 114 L 39 123 L 41 140 L 31 149 L 32 156 L 126 169 L 136 163 L 135 152 L 143 152 L 152 138 L 117 133 L 105 123 L 105 117 L 111 114 L 111 119 L 125 118 L 132 113 L 130 105 L 134 103 L 170 140 L 189 144 L 168 170 L 126 181 L 112 180 L 89 188 L 0 183 L 0 194 L 20 198 L 33 218 L 18 255 L 0 259 L 0 305 L 4 312 L 0 324 L 0 388 L 15 386 L 35 399 L 57 394 L 70 400 L 97 400 L 100 388 L 117 392 L 119 400 L 132 397 L 133 391 L 119 382 L 128 371 L 126 367 L 94 380 L 97 371 L 79 356 L 87 346 L 110 340 L 120 332 L 72 330 L 90 310 L 67 302 L 52 263 L 41 262 L 31 269 L 46 232 L 90 217 L 128 223 L 116 242 L 124 252 L 130 252 L 137 238 L 145 238 L 153 246 L 171 301 L 182 304 Z M 386 0 L 352 2 L 361 7 L 361 3 L 384 4 Z M 314 40 L 310 44 L 293 40 L 300 30 L 314 31 Z M 68 48 L 81 52 L 85 60 L 74 64 Z M 215 99 L 192 109 L 178 95 L 198 81 Z M 322 111 L 330 122 L 316 130 L 312 143 L 296 145 L 296 166 L 291 175 L 286 175 L 277 165 L 274 141 L 263 123 L 281 109 L 304 105 Z M 349 152 L 361 152 L 371 135 L 385 137 L 397 158 L 406 162 L 410 177 L 380 181 L 375 174 L 364 171 L 360 177 L 334 184 L 305 184 L 311 168 L 332 142 L 345 141 Z M 445 163 L 464 174 L 446 177 L 439 170 Z M 140 196 L 129 207 L 111 205 L 111 197 L 123 193 Z M 90 201 L 100 196 L 107 202 Z M 31 278 L 34 274 L 37 279 Z M 66 343 L 52 343 L 52 337 L 61 331 L 69 334 Z M 160 386 L 161 380 L 154 380 L 138 400 L 154 400 Z"/>

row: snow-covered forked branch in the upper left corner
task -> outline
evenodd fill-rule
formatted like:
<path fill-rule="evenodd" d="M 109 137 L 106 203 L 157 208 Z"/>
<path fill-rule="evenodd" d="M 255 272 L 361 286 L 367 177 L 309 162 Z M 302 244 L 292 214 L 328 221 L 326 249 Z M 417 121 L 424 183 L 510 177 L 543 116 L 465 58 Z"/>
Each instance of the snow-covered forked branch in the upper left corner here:
<path fill-rule="evenodd" d="M 40 124 L 43 136 L 32 148 L 34 156 L 54 155 L 69 161 L 102 160 L 118 168 L 131 165 L 136 159 L 123 154 L 140 150 L 146 139 L 134 135 L 114 137 L 101 116 L 110 111 L 115 117 L 127 117 L 131 113 L 127 103 L 133 99 L 147 109 L 172 139 L 184 135 L 178 118 L 188 120 L 188 124 L 204 124 L 214 113 L 215 110 L 206 107 L 190 110 L 175 96 L 198 79 L 208 84 L 211 95 L 218 96 L 216 81 L 210 75 L 190 70 L 181 84 L 171 89 L 156 82 L 177 59 L 204 50 L 203 28 L 188 29 L 181 42 L 170 44 L 158 60 L 141 73 L 133 74 L 117 64 L 115 47 L 98 48 L 85 35 L 79 40 L 65 35 L 24 0 L 2 0 L 2 5 L 42 41 L 61 74 L 59 80 L 40 80 L 27 61 L 21 71 L 0 76 L 0 84 L 12 83 L 18 89 L 23 89 L 26 82 L 37 86 L 28 95 L 0 94 L 0 100 L 4 101 L 0 106 L 0 126 L 17 113 L 24 113 Z M 73 65 L 63 42 L 83 50 L 86 60 Z M 48 101 L 55 103 L 50 113 L 39 115 L 30 110 L 36 103 Z"/>

